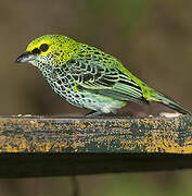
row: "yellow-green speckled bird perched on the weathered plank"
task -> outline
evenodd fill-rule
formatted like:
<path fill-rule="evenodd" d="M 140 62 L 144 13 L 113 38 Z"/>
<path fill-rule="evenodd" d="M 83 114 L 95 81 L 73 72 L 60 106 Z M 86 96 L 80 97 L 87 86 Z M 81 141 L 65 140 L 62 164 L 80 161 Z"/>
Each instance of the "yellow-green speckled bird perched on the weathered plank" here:
<path fill-rule="evenodd" d="M 16 63 L 24 62 L 38 68 L 51 88 L 66 101 L 92 110 L 88 117 L 116 113 L 128 102 L 159 102 L 180 114 L 191 114 L 149 87 L 113 56 L 64 35 L 43 35 L 30 41 L 16 59 Z"/>

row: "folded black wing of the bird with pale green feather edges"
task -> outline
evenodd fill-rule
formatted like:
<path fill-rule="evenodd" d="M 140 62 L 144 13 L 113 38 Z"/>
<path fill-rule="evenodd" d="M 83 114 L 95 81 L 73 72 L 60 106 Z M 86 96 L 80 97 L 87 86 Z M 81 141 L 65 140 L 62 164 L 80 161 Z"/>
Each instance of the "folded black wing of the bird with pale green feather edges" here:
<path fill-rule="evenodd" d="M 128 75 L 121 73 L 116 65 L 103 65 L 94 61 L 74 59 L 67 62 L 67 65 L 79 89 L 112 97 L 116 100 L 148 102 L 143 98 L 140 86 Z"/>

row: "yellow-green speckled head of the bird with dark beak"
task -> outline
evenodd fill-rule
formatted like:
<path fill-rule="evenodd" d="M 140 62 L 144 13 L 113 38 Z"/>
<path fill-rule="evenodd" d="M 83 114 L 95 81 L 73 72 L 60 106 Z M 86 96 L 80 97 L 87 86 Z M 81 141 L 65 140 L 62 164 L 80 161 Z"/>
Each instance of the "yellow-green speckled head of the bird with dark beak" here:
<path fill-rule="evenodd" d="M 33 40 L 17 63 L 29 62 L 38 68 L 43 64 L 59 66 L 78 51 L 78 44 L 62 35 L 44 35 Z"/>

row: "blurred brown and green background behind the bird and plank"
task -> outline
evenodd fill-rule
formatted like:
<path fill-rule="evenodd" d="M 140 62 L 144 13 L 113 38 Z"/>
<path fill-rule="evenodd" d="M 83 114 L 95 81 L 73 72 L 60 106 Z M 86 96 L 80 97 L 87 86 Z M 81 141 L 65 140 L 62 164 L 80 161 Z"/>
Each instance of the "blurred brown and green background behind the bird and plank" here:
<path fill-rule="evenodd" d="M 119 59 L 150 86 L 192 110 L 192 1 L 0 1 L 1 115 L 85 113 L 55 95 L 39 71 L 15 64 L 27 44 L 63 34 Z M 78 176 L 84 196 L 192 195 L 192 171 Z M 69 177 L 0 180 L 3 196 L 71 195 Z"/>

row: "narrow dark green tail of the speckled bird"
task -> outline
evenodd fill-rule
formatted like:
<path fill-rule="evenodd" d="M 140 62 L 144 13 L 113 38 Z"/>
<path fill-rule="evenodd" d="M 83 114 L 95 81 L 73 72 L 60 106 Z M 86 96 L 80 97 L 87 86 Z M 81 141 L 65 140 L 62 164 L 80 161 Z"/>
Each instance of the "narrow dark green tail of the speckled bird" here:
<path fill-rule="evenodd" d="M 158 93 L 154 93 L 152 95 L 152 99 L 154 101 L 157 101 L 157 102 L 161 102 L 165 106 L 168 106 L 169 108 L 178 111 L 179 113 L 182 113 L 182 114 L 190 114 L 191 115 L 191 112 L 185 110 L 182 106 L 180 106 L 179 103 L 177 103 L 176 101 L 174 101 L 172 99 L 164 96 L 163 94 L 158 94 Z"/>

